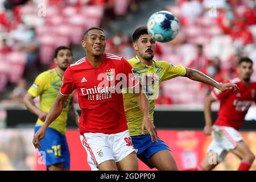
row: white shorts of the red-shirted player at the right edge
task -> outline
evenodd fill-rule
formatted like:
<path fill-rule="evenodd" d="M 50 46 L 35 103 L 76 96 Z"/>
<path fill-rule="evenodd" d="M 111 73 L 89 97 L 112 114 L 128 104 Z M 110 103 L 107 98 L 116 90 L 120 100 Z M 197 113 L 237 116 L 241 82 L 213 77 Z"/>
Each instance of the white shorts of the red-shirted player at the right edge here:
<path fill-rule="evenodd" d="M 218 162 L 225 159 L 230 150 L 237 147 L 237 142 L 243 140 L 240 133 L 233 127 L 213 125 L 213 141 L 210 143 L 208 152 L 215 152 L 218 155 Z"/>

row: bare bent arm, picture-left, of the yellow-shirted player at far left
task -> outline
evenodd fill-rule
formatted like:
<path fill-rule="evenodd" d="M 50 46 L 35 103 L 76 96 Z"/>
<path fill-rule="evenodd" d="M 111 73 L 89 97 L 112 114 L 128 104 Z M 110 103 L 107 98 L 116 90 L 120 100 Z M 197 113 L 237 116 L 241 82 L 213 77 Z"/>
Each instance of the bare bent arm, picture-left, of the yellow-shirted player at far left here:
<path fill-rule="evenodd" d="M 27 109 L 31 111 L 31 113 L 38 115 L 38 118 L 44 121 L 46 119 L 47 113 L 44 113 L 44 111 L 36 107 L 34 98 L 34 96 L 27 92 L 24 96 L 23 103 L 27 107 Z"/>

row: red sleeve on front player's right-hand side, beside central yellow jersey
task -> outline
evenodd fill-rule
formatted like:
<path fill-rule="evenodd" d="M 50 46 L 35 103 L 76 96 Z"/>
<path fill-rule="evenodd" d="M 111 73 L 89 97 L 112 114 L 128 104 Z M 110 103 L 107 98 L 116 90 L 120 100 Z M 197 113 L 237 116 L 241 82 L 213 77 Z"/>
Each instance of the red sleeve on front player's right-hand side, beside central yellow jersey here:
<path fill-rule="evenodd" d="M 126 59 L 122 58 L 121 61 L 123 63 L 123 71 L 127 77 L 126 87 L 134 88 L 134 86 L 139 84 L 139 80 L 134 73 L 134 69 Z"/>

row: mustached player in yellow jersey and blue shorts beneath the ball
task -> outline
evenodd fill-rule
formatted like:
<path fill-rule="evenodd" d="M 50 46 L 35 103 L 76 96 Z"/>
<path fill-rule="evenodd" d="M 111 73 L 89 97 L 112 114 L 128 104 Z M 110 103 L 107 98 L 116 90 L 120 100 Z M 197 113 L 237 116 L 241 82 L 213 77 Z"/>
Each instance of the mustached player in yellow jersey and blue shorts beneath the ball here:
<path fill-rule="evenodd" d="M 141 81 L 150 101 L 150 118 L 154 121 L 155 99 L 157 97 L 159 84 L 178 76 L 188 77 L 191 80 L 204 82 L 221 91 L 234 88 L 236 84 L 221 84 L 203 73 L 180 65 L 172 65 L 167 61 L 153 60 L 155 54 L 155 41 L 148 35 L 146 27 L 139 27 L 133 33 L 133 47 L 137 55 L 128 60 L 134 68 L 135 75 Z M 150 81 L 151 79 L 151 81 Z M 177 170 L 174 157 L 170 148 L 158 138 L 158 142 L 152 141 L 150 135 L 143 128 L 143 115 L 139 110 L 137 97 L 129 90 L 123 90 L 123 104 L 130 136 L 134 148 L 138 149 L 137 156 L 150 168 L 158 170 Z"/>

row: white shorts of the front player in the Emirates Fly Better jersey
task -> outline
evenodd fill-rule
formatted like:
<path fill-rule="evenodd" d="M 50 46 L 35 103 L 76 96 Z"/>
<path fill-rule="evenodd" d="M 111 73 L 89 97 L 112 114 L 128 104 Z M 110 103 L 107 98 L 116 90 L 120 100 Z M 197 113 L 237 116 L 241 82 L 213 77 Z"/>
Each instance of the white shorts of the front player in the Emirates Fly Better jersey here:
<path fill-rule="evenodd" d="M 85 133 L 80 135 L 82 146 L 87 152 L 87 160 L 92 171 L 106 160 L 119 162 L 135 151 L 129 130 L 117 134 Z"/>

